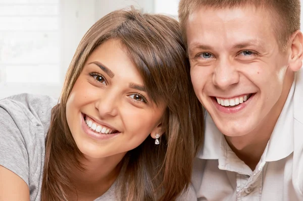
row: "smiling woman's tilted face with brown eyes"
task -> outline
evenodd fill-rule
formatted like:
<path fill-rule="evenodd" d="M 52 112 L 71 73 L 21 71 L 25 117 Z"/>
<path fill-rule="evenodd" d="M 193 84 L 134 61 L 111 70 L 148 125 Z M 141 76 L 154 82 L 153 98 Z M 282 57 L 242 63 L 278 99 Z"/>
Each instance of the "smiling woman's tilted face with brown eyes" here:
<path fill-rule="evenodd" d="M 80 151 L 105 158 L 160 133 L 166 107 L 151 101 L 126 49 L 110 39 L 88 57 L 67 100 L 66 117 Z"/>

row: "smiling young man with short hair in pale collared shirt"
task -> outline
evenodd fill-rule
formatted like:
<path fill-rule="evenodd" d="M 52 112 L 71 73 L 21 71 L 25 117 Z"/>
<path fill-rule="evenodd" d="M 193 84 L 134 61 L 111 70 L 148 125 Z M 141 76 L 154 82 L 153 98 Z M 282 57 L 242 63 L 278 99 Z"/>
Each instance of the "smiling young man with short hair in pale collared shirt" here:
<path fill-rule="evenodd" d="M 299 0 L 181 0 L 195 93 L 207 110 L 198 200 L 303 200 Z"/>

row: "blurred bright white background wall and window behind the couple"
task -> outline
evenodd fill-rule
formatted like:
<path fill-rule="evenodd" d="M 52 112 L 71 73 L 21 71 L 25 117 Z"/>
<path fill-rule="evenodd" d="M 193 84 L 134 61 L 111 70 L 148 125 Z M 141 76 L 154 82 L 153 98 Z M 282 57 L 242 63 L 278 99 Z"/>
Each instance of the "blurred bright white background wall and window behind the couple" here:
<path fill-rule="evenodd" d="M 177 17 L 178 2 L 0 0 L 0 98 L 23 92 L 59 97 L 77 45 L 94 22 L 130 5 Z"/>

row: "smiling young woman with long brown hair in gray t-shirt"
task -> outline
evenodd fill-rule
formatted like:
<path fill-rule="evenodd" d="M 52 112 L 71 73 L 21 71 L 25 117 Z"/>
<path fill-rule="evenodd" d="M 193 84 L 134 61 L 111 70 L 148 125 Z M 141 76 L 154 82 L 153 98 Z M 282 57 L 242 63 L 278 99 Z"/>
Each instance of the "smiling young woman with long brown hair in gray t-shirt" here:
<path fill-rule="evenodd" d="M 81 40 L 59 104 L 0 101 L 0 200 L 191 200 L 202 113 L 177 21 L 112 12 Z"/>

